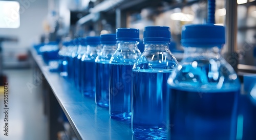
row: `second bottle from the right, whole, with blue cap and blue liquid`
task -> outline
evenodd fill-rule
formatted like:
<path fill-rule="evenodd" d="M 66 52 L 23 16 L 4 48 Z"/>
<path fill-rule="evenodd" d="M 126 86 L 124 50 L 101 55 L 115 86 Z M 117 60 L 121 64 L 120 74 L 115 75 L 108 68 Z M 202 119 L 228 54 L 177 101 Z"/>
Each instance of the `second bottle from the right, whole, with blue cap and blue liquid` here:
<path fill-rule="evenodd" d="M 132 131 L 142 139 L 166 139 L 167 80 L 177 60 L 169 51 L 170 28 L 144 28 L 145 50 L 132 71 Z"/>

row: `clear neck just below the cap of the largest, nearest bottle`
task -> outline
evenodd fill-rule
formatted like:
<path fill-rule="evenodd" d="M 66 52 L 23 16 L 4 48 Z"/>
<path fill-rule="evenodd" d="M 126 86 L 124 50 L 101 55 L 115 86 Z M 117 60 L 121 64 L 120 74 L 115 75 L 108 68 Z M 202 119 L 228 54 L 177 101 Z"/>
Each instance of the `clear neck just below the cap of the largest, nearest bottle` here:
<path fill-rule="evenodd" d="M 218 46 L 211 48 L 197 48 L 197 47 L 187 47 L 184 50 L 184 59 L 200 57 L 203 59 L 220 59 L 220 49 Z"/>

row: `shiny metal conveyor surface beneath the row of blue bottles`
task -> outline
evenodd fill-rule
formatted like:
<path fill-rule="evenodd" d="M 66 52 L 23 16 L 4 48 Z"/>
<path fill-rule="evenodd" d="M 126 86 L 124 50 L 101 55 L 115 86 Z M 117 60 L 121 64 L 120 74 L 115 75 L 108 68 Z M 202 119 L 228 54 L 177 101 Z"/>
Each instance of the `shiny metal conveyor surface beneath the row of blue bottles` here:
<path fill-rule="evenodd" d="M 94 99 L 83 97 L 58 73 L 49 72 L 49 66 L 34 50 L 31 54 L 79 139 L 134 139 L 130 123 L 110 119 L 108 108 L 98 107 Z"/>

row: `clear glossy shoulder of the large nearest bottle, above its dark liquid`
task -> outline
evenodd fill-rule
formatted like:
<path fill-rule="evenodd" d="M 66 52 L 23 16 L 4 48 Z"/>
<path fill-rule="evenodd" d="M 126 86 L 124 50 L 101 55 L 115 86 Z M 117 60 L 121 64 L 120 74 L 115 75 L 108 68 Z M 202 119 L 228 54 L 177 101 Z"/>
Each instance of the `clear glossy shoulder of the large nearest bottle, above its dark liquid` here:
<path fill-rule="evenodd" d="M 181 61 L 168 79 L 171 87 L 189 90 L 235 90 L 240 81 L 232 66 L 223 58 L 187 58 Z"/>

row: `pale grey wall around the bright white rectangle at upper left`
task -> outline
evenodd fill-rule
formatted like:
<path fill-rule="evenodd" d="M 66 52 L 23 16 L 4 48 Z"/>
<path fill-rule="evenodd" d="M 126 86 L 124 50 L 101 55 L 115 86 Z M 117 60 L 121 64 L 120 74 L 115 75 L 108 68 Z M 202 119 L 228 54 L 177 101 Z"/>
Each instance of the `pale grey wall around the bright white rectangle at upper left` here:
<path fill-rule="evenodd" d="M 33 42 L 39 42 L 44 33 L 42 23 L 47 18 L 47 0 L 17 0 L 20 5 L 20 27 L 0 29 L 0 36 L 17 37 L 17 43 L 4 42 L 4 50 L 10 48 L 29 48 Z"/>

